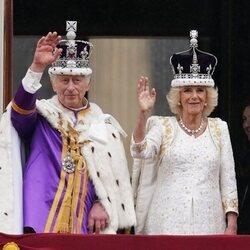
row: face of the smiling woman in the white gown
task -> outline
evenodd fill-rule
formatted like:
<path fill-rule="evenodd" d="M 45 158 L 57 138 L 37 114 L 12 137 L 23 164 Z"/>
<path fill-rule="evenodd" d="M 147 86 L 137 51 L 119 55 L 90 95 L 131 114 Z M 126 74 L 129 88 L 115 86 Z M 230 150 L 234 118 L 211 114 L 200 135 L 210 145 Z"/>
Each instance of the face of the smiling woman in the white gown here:
<path fill-rule="evenodd" d="M 187 86 L 180 91 L 180 102 L 184 115 L 200 115 L 207 100 L 206 87 Z"/>

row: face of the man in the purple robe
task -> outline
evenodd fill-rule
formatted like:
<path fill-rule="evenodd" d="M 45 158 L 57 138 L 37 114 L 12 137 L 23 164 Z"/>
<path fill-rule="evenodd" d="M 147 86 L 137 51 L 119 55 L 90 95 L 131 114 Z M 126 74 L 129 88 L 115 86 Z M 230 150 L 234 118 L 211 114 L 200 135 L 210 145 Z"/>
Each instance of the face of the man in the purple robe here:
<path fill-rule="evenodd" d="M 56 75 L 52 87 L 59 101 L 68 108 L 81 108 L 86 103 L 84 95 L 90 88 L 90 79 L 86 76 Z"/>

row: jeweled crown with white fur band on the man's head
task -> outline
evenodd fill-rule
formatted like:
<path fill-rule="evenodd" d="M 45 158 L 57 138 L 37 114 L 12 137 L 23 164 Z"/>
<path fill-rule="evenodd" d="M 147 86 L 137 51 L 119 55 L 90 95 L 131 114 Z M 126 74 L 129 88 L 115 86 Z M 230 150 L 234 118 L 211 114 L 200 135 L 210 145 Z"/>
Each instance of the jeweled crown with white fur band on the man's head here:
<path fill-rule="evenodd" d="M 77 31 L 76 21 L 66 21 L 66 40 L 57 45 L 62 49 L 58 59 L 49 68 L 50 75 L 90 75 L 89 59 L 93 45 L 83 40 L 75 40 Z"/>

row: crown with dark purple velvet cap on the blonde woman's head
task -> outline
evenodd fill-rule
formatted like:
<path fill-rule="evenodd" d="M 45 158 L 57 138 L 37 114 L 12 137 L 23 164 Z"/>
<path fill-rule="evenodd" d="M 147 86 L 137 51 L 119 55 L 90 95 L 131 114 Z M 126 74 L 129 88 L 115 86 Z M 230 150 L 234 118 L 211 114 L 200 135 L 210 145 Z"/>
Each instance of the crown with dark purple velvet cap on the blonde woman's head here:
<path fill-rule="evenodd" d="M 199 85 L 214 86 L 212 75 L 217 65 L 217 58 L 198 50 L 198 31 L 190 31 L 190 49 L 175 53 L 170 57 L 174 73 L 172 87 Z"/>

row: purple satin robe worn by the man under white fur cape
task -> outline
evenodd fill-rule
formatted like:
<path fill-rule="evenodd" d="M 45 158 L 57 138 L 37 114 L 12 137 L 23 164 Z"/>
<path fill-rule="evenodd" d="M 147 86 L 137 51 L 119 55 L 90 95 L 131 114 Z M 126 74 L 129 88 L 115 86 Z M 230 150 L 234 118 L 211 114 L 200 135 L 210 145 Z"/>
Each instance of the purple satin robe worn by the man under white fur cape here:
<path fill-rule="evenodd" d="M 23 178 L 24 227 L 32 227 L 37 233 L 42 233 L 45 231 L 48 215 L 60 182 L 62 139 L 60 132 L 35 110 L 36 98 L 37 94 L 26 92 L 21 84 L 13 102 L 20 112 L 18 109 L 12 108 L 11 121 L 19 136 L 28 138 L 31 142 Z M 27 112 L 25 113 L 25 111 Z M 75 112 L 76 119 L 78 115 L 79 111 Z M 84 173 L 81 177 L 81 186 L 83 185 L 83 175 Z M 67 176 L 65 185 L 67 185 Z M 87 180 L 86 196 L 82 195 L 81 190 L 77 213 L 79 213 L 80 202 L 85 197 L 81 233 L 88 233 L 88 214 L 96 199 L 92 181 Z M 62 197 L 64 193 L 65 187 Z M 59 200 L 59 205 L 61 203 L 62 198 Z M 53 223 L 57 215 L 58 211 L 55 212 Z M 49 232 L 53 230 L 53 223 Z"/>

